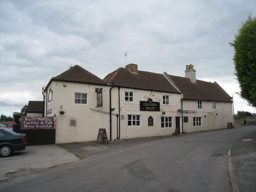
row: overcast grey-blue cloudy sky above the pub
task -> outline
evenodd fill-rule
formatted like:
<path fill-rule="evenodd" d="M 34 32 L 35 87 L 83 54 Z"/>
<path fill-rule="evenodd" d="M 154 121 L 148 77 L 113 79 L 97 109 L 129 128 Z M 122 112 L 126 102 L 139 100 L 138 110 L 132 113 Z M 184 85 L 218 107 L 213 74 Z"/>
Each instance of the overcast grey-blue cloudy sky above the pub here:
<path fill-rule="evenodd" d="M 0 114 L 42 101 L 42 86 L 71 64 L 99 78 L 129 63 L 183 77 L 193 64 L 197 79 L 232 96 L 228 42 L 250 13 L 255 0 L 1 0 Z M 237 94 L 234 110 L 256 112 Z"/>

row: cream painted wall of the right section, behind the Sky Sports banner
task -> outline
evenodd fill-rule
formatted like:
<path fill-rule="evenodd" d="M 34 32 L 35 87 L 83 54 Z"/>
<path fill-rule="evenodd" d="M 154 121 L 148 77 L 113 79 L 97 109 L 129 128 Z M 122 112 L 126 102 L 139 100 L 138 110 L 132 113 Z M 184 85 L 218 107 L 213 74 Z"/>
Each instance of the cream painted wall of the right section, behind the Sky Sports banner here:
<path fill-rule="evenodd" d="M 232 102 L 216 102 L 216 109 L 212 108 L 212 101 L 202 101 L 202 109 L 198 109 L 197 100 L 183 100 L 183 110 L 197 110 L 198 114 L 184 114 L 188 122 L 183 122 L 184 132 L 196 132 L 227 128 L 232 122 Z M 216 115 L 218 114 L 218 115 Z M 202 126 L 193 126 L 193 117 L 201 117 Z"/>

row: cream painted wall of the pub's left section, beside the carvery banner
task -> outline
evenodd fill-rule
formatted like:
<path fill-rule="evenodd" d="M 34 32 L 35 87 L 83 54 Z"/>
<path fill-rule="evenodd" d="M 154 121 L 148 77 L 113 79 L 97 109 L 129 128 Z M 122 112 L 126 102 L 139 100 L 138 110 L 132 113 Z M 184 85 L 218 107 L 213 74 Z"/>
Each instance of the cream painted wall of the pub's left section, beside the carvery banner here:
<path fill-rule="evenodd" d="M 56 114 L 56 143 L 95 141 L 99 128 L 106 128 L 108 139 L 110 138 L 109 114 L 104 114 L 93 109 L 109 111 L 109 88 L 110 86 L 98 86 L 53 81 L 48 89 L 52 89 L 52 114 Z M 103 88 L 103 106 L 96 107 L 95 88 Z M 75 104 L 75 93 L 86 93 L 87 104 Z M 65 114 L 61 115 L 60 106 Z M 69 120 L 76 119 L 76 126 L 70 126 Z"/>

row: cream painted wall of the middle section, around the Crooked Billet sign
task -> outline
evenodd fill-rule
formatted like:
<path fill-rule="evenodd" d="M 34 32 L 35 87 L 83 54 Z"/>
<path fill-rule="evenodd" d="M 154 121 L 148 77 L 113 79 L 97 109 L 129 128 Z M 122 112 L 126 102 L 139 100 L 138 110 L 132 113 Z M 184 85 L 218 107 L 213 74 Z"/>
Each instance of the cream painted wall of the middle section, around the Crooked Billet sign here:
<path fill-rule="evenodd" d="M 112 107 L 118 112 L 118 88 L 114 88 L 112 93 Z M 124 92 L 133 92 L 133 101 L 124 101 Z M 152 96 L 154 94 L 154 96 Z M 162 102 L 162 95 L 169 96 L 169 105 L 164 105 Z M 160 112 L 155 111 L 140 111 L 140 101 L 147 101 L 148 96 L 153 102 L 160 102 Z M 158 100 L 160 98 L 160 101 Z M 114 102 L 113 102 L 114 101 Z M 181 126 L 181 114 L 177 112 L 181 108 L 181 94 L 156 92 L 148 90 L 136 90 L 129 88 L 120 88 L 120 115 L 124 115 L 124 119 L 120 120 L 120 138 L 139 138 L 149 136 L 164 136 L 171 135 L 175 131 L 175 117 L 180 117 Z M 162 111 L 166 114 L 162 114 Z M 128 126 L 128 115 L 140 115 L 140 126 Z M 154 125 L 148 126 L 148 118 L 152 116 Z M 172 128 L 161 128 L 161 117 L 172 117 Z"/>

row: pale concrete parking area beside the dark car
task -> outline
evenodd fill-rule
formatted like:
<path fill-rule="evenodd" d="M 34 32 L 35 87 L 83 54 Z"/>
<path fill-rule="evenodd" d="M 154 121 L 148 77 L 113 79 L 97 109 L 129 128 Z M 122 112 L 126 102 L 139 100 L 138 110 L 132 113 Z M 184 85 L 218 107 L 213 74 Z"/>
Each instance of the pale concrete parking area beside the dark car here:
<path fill-rule="evenodd" d="M 59 146 L 30 145 L 25 150 L 0 158 L 0 182 L 78 161 L 79 158 Z"/>

